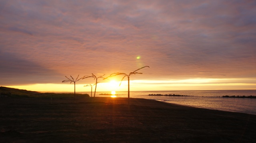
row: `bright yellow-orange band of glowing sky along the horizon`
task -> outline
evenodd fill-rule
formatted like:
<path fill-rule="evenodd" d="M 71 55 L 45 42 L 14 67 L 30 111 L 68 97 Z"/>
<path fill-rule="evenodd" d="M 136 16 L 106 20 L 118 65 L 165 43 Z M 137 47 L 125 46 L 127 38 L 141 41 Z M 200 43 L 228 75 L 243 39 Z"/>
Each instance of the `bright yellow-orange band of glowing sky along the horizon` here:
<path fill-rule="evenodd" d="M 157 91 L 157 90 L 224 90 L 224 89 L 255 89 L 256 84 L 249 79 L 249 83 L 240 83 L 246 79 L 188 79 L 188 80 L 131 80 L 131 91 Z M 251 82 L 251 83 L 250 83 Z M 127 91 L 127 80 L 122 81 L 111 80 L 106 83 L 98 83 L 97 91 L 99 92 L 116 92 Z M 91 88 L 84 87 L 86 84 L 76 84 L 76 92 L 90 92 Z M 31 84 L 22 86 L 7 86 L 11 88 L 19 88 L 40 92 L 73 92 L 74 84 Z M 93 86 L 93 90 L 94 90 Z M 112 94 L 113 94 L 112 93 Z"/>

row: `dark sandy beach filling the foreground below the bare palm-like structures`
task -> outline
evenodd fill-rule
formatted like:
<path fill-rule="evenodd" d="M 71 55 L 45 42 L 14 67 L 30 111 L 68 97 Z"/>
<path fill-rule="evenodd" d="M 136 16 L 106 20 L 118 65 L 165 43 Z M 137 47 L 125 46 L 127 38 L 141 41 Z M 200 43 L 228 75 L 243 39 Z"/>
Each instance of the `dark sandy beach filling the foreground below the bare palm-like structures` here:
<path fill-rule="evenodd" d="M 0 98 L 0 142 L 253 143 L 256 115 L 139 98 Z"/>

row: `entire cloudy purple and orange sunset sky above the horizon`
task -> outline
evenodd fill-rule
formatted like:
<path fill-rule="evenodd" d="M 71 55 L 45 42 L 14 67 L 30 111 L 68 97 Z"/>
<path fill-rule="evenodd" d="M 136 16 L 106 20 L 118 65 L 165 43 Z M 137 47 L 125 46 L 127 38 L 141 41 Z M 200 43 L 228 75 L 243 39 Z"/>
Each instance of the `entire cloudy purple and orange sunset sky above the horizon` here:
<path fill-rule="evenodd" d="M 256 1 L 0 0 L 0 86 L 72 92 L 65 76 L 144 66 L 131 90 L 256 89 Z M 97 90 L 127 90 L 122 77 Z"/>

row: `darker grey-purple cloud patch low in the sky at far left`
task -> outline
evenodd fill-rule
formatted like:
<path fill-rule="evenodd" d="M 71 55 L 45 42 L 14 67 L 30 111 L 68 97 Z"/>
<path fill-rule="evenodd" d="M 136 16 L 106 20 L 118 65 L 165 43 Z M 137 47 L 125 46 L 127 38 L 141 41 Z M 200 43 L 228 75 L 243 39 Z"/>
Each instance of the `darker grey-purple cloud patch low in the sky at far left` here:
<path fill-rule="evenodd" d="M 55 83 L 58 73 L 10 53 L 0 55 L 0 84 Z"/>

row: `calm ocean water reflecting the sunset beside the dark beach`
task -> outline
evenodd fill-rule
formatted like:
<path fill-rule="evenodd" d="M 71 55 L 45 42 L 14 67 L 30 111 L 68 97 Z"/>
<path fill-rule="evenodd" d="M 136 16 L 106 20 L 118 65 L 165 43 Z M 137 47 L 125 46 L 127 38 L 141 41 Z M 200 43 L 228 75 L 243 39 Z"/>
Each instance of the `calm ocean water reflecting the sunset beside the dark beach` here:
<path fill-rule="evenodd" d="M 79 92 L 91 94 L 91 92 Z M 111 92 L 96 92 L 96 97 L 108 97 Z M 179 94 L 186 96 L 149 96 L 148 94 Z M 94 92 L 92 92 L 92 96 Z M 256 115 L 256 98 L 223 98 L 222 96 L 256 96 L 256 90 L 180 90 L 130 91 L 130 98 L 145 98 L 197 108 L 241 112 Z M 117 97 L 128 97 L 127 91 L 116 92 Z"/>

